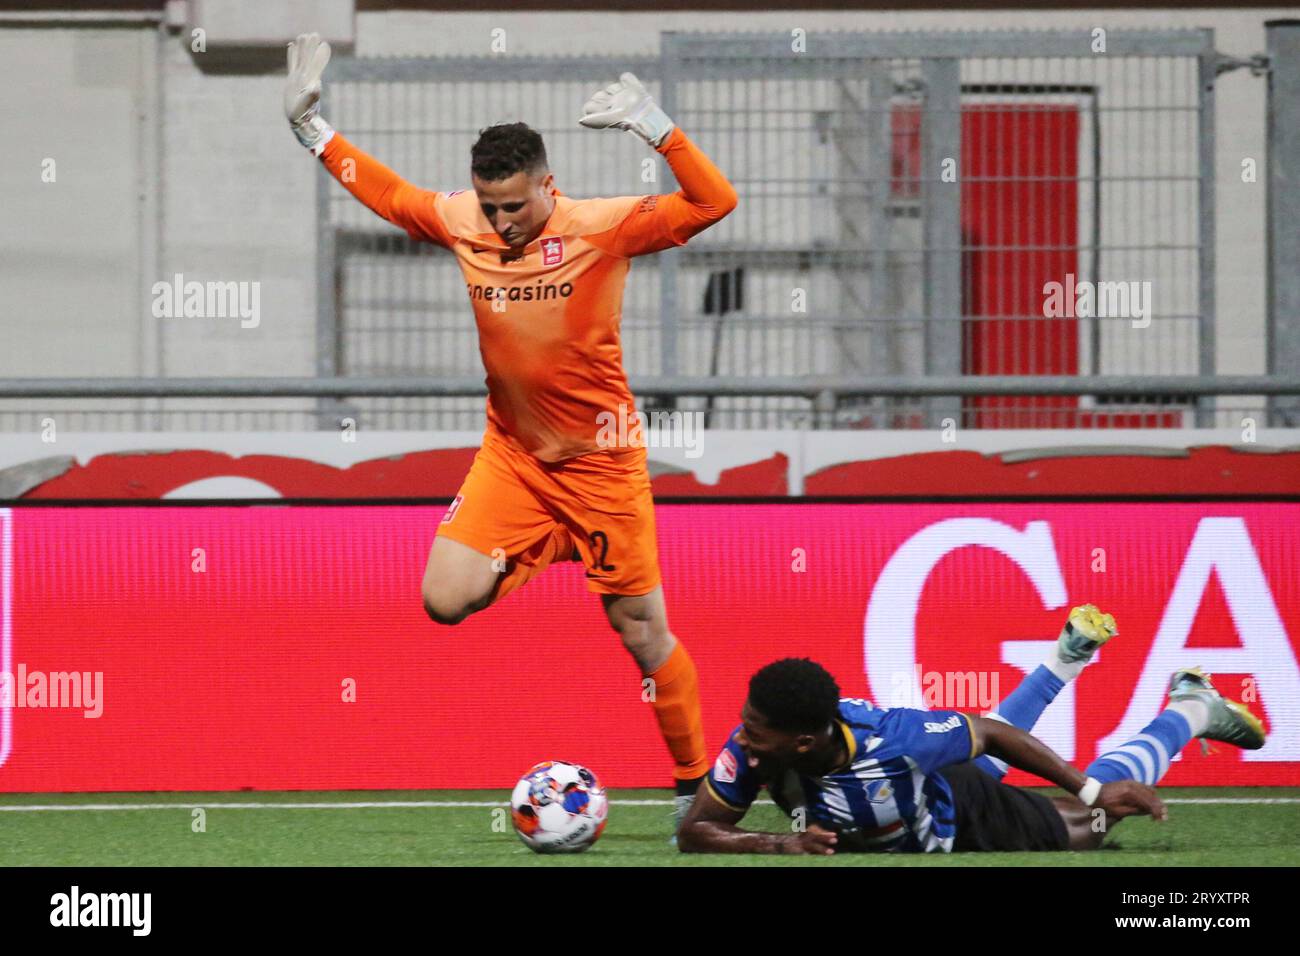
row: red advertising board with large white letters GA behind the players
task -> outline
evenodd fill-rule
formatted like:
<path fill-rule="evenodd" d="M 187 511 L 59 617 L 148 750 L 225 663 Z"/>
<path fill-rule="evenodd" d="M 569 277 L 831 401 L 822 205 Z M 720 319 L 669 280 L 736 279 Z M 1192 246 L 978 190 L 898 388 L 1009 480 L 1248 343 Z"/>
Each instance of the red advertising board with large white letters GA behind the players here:
<path fill-rule="evenodd" d="M 439 518 L 0 511 L 18 691 L 0 709 L 0 790 L 504 787 L 546 756 L 610 786 L 666 786 L 640 675 L 582 570 L 550 568 L 463 624 L 432 624 L 420 579 Z M 1166 783 L 1300 783 L 1300 505 L 705 503 L 662 506 L 658 523 L 710 748 L 775 658 L 814 657 L 845 695 L 881 704 L 933 674 L 945 695 L 1001 697 L 1091 601 L 1121 635 L 1049 708 L 1036 728 L 1048 743 L 1086 763 L 1154 717 L 1170 671 L 1204 665 L 1252 698 L 1270 743 L 1209 757 L 1193 745 Z M 79 688 L 56 676 L 74 672 Z M 966 693 L 935 702 L 994 702 Z"/>

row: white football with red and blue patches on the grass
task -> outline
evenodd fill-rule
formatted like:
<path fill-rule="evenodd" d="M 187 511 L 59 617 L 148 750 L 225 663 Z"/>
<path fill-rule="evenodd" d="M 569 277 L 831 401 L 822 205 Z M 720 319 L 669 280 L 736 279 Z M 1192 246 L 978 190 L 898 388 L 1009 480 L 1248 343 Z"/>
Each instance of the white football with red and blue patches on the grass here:
<path fill-rule="evenodd" d="M 581 853 L 601 836 L 608 812 L 595 774 L 559 760 L 532 767 L 510 795 L 515 832 L 538 853 Z"/>

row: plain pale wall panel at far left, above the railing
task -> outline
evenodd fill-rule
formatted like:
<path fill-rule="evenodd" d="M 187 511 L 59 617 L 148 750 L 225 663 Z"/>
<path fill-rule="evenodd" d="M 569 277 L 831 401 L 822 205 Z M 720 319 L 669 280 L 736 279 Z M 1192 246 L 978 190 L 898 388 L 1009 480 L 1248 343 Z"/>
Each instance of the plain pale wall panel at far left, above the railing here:
<path fill-rule="evenodd" d="M 153 38 L 0 29 L 0 375 L 134 375 Z"/>

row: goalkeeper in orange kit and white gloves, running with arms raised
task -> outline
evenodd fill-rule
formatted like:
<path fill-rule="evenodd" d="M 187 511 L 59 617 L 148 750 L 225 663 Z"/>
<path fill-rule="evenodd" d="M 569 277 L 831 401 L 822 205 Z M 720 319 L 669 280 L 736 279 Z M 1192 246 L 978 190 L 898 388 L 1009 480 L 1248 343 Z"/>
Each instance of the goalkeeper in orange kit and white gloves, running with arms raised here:
<path fill-rule="evenodd" d="M 289 47 L 294 134 L 377 215 L 456 256 L 488 371 L 488 428 L 434 537 L 425 610 L 456 624 L 551 562 L 582 561 L 610 626 L 654 682 L 680 822 L 710 767 L 696 666 L 668 628 L 645 447 L 604 436 L 611 418 L 636 415 L 619 342 L 630 259 L 685 243 L 736 207 L 736 191 L 630 73 L 598 91 L 580 122 L 641 137 L 668 161 L 677 193 L 571 199 L 541 135 L 521 122 L 482 130 L 472 190 L 419 189 L 320 116 L 328 61 L 315 34 Z"/>

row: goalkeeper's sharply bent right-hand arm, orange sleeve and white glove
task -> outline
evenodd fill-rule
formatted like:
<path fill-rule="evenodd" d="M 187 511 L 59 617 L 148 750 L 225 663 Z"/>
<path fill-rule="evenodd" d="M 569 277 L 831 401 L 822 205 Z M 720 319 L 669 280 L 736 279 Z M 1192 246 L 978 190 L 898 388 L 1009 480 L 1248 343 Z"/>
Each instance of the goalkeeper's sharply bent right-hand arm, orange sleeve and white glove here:
<path fill-rule="evenodd" d="M 615 230 L 614 251 L 645 255 L 680 246 L 736 208 L 736 190 L 722 170 L 668 118 L 632 73 L 599 90 L 584 107 L 578 122 L 590 129 L 637 134 L 658 150 L 681 189 L 655 196 Z"/>

